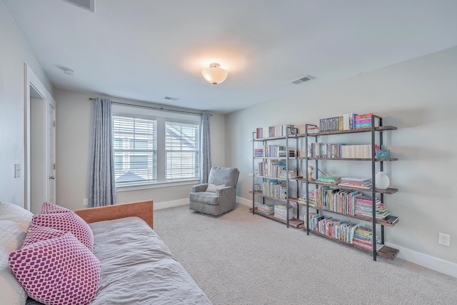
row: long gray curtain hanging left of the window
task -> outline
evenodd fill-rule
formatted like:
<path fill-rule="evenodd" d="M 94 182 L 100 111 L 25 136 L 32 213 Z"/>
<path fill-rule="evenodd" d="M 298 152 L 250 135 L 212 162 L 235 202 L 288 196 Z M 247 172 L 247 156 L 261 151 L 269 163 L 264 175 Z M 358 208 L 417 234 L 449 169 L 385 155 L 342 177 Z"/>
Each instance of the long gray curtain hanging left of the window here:
<path fill-rule="evenodd" d="M 116 203 L 112 134 L 111 101 L 96 99 L 89 184 L 90 206 L 109 206 Z"/>

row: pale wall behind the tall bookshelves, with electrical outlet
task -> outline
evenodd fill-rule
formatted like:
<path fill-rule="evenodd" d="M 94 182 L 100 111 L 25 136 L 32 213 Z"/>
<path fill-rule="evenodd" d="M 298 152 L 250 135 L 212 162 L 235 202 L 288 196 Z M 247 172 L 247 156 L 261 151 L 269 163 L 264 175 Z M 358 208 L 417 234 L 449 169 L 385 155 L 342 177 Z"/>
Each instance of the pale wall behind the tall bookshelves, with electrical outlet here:
<path fill-rule="evenodd" d="M 384 125 L 398 127 L 384 138 L 391 154 L 398 157 L 387 164 L 386 171 L 391 187 L 399 189 L 386 195 L 385 201 L 392 214 L 400 217 L 396 226 L 386 228 L 386 243 L 401 249 L 399 257 L 457 276 L 457 193 L 453 189 L 457 185 L 456 66 L 454 47 L 333 84 L 313 86 L 310 81 L 299 85 L 302 89 L 291 96 L 227 115 L 226 147 L 230 151 L 226 163 L 241 170 L 238 196 L 246 203 L 252 199 L 248 194 L 252 185 L 248 139 L 256 127 L 318 124 L 318 119 L 330 116 L 375 112 L 383 116 Z M 369 138 L 365 139 L 333 136 L 321 140 L 368 143 Z M 361 162 L 323 164 L 333 175 L 370 174 L 370 164 Z M 451 235 L 450 247 L 438 244 L 438 232 Z"/>

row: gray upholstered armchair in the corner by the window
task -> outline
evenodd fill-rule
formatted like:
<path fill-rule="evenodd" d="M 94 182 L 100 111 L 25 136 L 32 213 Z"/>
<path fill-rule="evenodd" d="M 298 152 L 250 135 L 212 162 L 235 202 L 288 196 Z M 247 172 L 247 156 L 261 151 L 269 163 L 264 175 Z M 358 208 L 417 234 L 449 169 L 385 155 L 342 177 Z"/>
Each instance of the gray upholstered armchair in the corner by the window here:
<path fill-rule="evenodd" d="M 211 167 L 208 183 L 192 186 L 189 209 L 214 216 L 232 210 L 236 206 L 238 175 L 234 167 Z"/>

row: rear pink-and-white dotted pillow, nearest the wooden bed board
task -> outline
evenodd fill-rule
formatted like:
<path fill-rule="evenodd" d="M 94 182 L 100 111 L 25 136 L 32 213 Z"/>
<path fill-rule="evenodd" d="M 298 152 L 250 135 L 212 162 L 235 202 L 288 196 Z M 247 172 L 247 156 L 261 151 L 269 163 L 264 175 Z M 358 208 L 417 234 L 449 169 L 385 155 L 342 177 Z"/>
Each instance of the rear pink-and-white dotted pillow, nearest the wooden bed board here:
<path fill-rule="evenodd" d="M 61 231 L 70 231 L 76 239 L 92 251 L 94 247 L 94 234 L 89 224 L 74 211 L 61 213 L 37 214 L 31 219 L 31 224 L 47 226 Z"/>

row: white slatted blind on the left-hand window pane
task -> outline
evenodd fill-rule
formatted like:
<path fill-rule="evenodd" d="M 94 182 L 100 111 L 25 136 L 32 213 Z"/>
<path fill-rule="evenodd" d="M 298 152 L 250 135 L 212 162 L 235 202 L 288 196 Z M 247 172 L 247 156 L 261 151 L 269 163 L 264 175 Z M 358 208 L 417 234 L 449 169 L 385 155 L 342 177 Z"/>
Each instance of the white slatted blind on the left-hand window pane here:
<path fill-rule="evenodd" d="M 116 184 L 156 181 L 156 120 L 112 118 Z"/>

